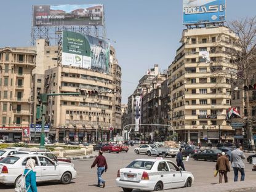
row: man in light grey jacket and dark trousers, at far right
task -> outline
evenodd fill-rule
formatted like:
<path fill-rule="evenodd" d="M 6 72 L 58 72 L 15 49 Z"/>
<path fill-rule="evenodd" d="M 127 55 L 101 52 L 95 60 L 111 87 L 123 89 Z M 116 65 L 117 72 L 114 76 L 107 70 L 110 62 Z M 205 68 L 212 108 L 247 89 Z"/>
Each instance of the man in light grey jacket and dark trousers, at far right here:
<path fill-rule="evenodd" d="M 244 181 L 244 162 L 242 159 L 246 159 L 246 156 L 244 156 L 244 153 L 242 152 L 242 146 L 237 145 L 236 150 L 231 152 L 231 166 L 234 170 L 234 182 L 238 181 L 238 172 L 241 173 L 241 181 Z"/>

